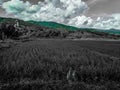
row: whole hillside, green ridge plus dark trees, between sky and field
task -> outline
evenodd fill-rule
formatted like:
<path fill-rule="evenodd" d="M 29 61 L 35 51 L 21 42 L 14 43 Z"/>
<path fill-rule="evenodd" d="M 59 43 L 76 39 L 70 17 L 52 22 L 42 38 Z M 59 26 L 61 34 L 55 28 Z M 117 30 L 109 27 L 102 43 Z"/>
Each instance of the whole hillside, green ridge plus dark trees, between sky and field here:
<path fill-rule="evenodd" d="M 19 27 L 14 28 L 15 21 L 19 22 Z M 4 26 L 4 25 L 5 26 Z M 23 38 L 69 38 L 69 39 L 119 39 L 120 30 L 99 30 L 91 28 L 76 28 L 55 22 L 23 21 L 13 18 L 0 18 L 1 33 L 6 36 Z M 12 28 L 11 28 L 12 27 Z M 4 30 L 4 31 L 2 31 Z M 11 33 L 11 34 L 10 34 Z M 9 34 L 9 35 L 7 35 Z M 1 36 L 0 36 L 1 37 Z"/>

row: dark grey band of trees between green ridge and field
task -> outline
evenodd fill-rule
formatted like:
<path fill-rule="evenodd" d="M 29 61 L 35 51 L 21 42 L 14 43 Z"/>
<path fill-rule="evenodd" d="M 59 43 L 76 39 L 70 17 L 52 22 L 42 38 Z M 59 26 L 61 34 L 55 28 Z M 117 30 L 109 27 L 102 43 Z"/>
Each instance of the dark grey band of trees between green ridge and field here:
<path fill-rule="evenodd" d="M 86 30 L 67 30 L 65 28 L 49 28 L 36 25 L 30 25 L 23 21 L 19 22 L 19 27 L 14 27 L 15 22 L 3 22 L 0 24 L 0 39 L 3 35 L 12 39 L 25 39 L 25 38 L 69 38 L 69 39 L 119 39 L 120 35 L 90 32 Z"/>

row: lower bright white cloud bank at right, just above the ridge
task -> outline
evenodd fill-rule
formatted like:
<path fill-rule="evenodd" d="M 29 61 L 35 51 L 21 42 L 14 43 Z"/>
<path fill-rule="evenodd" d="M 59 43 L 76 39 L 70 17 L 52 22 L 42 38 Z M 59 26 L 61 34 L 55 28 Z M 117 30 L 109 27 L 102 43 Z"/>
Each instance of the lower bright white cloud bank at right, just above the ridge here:
<path fill-rule="evenodd" d="M 98 29 L 120 29 L 120 14 L 101 16 L 94 20 L 84 15 L 78 16 L 71 19 L 69 25 Z"/>

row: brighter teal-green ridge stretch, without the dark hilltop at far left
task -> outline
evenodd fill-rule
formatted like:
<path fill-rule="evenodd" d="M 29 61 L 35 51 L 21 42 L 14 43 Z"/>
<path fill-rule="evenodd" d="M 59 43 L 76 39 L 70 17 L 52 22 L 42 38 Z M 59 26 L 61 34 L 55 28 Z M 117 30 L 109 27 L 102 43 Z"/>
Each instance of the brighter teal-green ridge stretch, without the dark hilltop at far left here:
<path fill-rule="evenodd" d="M 81 30 L 81 31 L 89 31 L 89 32 L 103 32 L 103 33 L 120 35 L 120 30 L 116 30 L 116 29 L 102 30 L 102 29 L 93 29 L 93 28 L 77 28 L 77 27 L 67 26 L 64 24 L 56 23 L 56 22 L 45 22 L 45 21 L 39 21 L 39 22 L 29 21 L 29 23 L 50 27 L 50 28 L 62 28 L 66 30 Z"/>

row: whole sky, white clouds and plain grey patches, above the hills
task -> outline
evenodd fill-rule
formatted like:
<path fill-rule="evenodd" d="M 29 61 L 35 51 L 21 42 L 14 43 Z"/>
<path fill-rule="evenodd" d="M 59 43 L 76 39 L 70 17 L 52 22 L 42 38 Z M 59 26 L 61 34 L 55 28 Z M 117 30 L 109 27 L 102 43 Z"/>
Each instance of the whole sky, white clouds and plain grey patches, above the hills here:
<path fill-rule="evenodd" d="M 0 16 L 120 29 L 120 0 L 0 0 Z"/>

